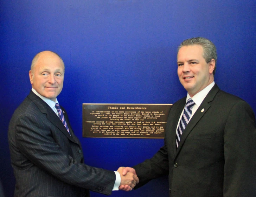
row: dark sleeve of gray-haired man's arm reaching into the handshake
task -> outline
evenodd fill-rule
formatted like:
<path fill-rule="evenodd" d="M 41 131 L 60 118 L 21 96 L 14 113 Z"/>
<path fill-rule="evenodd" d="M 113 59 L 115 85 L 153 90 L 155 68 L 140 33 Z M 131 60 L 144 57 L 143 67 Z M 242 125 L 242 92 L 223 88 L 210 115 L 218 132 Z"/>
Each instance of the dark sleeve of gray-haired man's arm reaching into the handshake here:
<path fill-rule="evenodd" d="M 135 189 L 145 185 L 155 178 L 167 175 L 169 171 L 168 152 L 166 143 L 158 152 L 151 158 L 133 167 L 140 182 L 135 186 Z"/>

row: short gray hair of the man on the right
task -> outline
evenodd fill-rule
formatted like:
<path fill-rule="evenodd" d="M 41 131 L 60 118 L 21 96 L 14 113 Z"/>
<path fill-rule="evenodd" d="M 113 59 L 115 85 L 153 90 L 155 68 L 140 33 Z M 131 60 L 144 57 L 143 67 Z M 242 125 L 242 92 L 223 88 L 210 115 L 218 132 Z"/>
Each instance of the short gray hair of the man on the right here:
<path fill-rule="evenodd" d="M 201 45 L 203 47 L 203 57 L 206 63 L 209 63 L 212 59 L 215 60 L 215 68 L 213 70 L 213 75 L 214 75 L 216 71 L 216 65 L 217 65 L 216 46 L 206 38 L 202 38 L 202 37 L 190 38 L 181 42 L 180 46 L 178 47 L 178 52 L 180 48 L 183 46 L 193 46 L 193 45 Z"/>

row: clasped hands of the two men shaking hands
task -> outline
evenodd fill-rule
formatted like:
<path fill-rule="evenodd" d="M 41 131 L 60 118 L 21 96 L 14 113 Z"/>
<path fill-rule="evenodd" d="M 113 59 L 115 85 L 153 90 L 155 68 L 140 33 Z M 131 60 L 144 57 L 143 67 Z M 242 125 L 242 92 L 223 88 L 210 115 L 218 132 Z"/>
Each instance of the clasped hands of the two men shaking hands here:
<path fill-rule="evenodd" d="M 119 190 L 131 191 L 137 183 L 139 183 L 139 178 L 133 168 L 130 167 L 120 167 L 117 172 L 121 176 L 121 183 Z"/>

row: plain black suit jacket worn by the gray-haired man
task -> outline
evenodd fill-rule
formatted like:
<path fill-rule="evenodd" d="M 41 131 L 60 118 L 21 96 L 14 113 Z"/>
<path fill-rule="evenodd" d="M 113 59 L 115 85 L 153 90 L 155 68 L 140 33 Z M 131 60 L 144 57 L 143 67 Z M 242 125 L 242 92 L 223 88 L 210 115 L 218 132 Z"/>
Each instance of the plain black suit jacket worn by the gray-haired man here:
<path fill-rule="evenodd" d="M 176 148 L 186 97 L 170 109 L 165 144 L 134 168 L 140 187 L 168 174 L 171 197 L 256 196 L 255 116 L 248 103 L 215 86 L 191 118 Z"/>

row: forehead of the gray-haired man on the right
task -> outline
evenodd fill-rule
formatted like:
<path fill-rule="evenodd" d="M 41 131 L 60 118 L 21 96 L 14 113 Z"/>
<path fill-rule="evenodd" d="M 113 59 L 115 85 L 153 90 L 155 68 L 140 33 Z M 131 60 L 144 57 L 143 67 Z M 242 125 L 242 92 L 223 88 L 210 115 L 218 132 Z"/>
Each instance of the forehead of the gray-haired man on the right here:
<path fill-rule="evenodd" d="M 177 54 L 177 60 L 199 58 L 203 58 L 203 47 L 201 45 L 183 46 Z"/>

